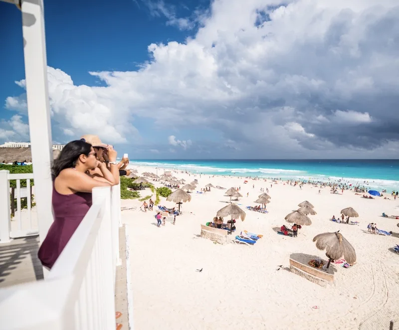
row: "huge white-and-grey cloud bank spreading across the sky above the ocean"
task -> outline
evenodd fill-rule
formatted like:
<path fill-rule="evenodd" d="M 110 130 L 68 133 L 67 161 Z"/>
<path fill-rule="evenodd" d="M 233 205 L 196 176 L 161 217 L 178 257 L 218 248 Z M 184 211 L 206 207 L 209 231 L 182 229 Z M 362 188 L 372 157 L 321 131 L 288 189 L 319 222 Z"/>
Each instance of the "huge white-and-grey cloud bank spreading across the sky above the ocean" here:
<path fill-rule="evenodd" d="M 53 122 L 66 138 L 91 133 L 140 145 L 134 120 L 142 118 L 155 124 L 146 150 L 161 153 L 167 148 L 157 147 L 157 138 L 169 123 L 177 136 L 204 128 L 218 137 L 197 138 L 191 150 L 191 140 L 169 137 L 177 152 L 193 157 L 200 144 L 220 158 L 236 150 L 278 158 L 396 148 L 397 0 L 284 2 L 214 0 L 208 12 L 187 18 L 200 25 L 192 38 L 150 44 L 150 60 L 138 71 L 90 72 L 105 87 L 76 86 L 49 67 Z M 179 19 L 163 1 L 148 3 L 154 15 Z M 260 12 L 270 20 L 259 22 Z M 6 107 L 23 112 L 23 96 L 7 98 Z M 356 125 L 348 130 L 339 125 L 345 122 Z"/>

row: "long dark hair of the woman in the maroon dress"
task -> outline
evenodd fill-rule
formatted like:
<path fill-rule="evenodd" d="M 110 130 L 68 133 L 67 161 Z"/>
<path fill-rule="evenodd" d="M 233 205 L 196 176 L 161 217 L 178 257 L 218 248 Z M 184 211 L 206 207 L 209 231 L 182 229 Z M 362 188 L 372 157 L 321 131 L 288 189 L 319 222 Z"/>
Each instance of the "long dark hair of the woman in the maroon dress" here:
<path fill-rule="evenodd" d="M 51 176 L 53 181 L 58 174 L 65 168 L 75 167 L 76 161 L 80 155 L 89 156 L 91 144 L 76 140 L 69 142 L 61 151 L 58 158 L 54 161 L 51 167 Z"/>

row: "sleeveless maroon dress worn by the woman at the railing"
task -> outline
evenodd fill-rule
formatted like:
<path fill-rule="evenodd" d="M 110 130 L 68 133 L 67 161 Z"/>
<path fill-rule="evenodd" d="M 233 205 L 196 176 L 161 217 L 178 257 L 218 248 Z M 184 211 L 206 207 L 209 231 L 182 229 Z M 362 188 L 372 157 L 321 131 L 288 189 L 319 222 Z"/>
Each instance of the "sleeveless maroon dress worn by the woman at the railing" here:
<path fill-rule="evenodd" d="M 54 186 L 52 199 L 54 222 L 38 252 L 41 263 L 48 268 L 54 265 L 92 203 L 91 192 L 62 195 Z"/>

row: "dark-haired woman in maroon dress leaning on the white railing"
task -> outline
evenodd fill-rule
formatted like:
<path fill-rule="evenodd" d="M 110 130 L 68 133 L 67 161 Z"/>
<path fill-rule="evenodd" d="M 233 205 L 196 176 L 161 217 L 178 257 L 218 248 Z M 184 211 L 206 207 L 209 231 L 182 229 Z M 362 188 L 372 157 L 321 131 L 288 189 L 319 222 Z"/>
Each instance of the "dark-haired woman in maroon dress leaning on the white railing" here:
<path fill-rule="evenodd" d="M 116 151 L 112 149 L 109 156 L 116 160 Z M 88 173 L 96 167 L 103 176 Z M 38 252 L 43 266 L 50 269 L 89 210 L 92 189 L 115 184 L 106 165 L 97 161 L 93 147 L 83 141 L 69 142 L 62 149 L 52 166 L 52 179 L 54 222 Z"/>

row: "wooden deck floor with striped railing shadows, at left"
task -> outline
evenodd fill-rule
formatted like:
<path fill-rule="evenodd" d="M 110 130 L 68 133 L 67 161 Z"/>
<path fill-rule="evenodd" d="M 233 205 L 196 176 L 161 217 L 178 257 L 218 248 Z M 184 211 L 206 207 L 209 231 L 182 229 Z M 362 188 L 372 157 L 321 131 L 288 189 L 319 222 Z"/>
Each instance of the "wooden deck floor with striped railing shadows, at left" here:
<path fill-rule="evenodd" d="M 0 245 L 0 285 L 7 277 L 15 277 L 15 280 L 22 275 L 19 273 L 18 265 L 25 262 L 30 264 L 23 272 L 34 272 L 34 279 L 43 279 L 43 268 L 37 258 L 37 251 L 39 250 L 39 242 L 37 236 L 30 236 L 17 239 L 19 242 L 12 244 Z M 26 260 L 29 258 L 29 260 Z M 31 269 L 29 268 L 31 267 Z"/>

